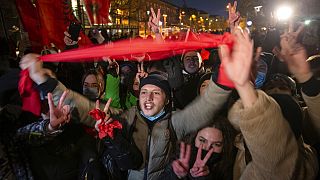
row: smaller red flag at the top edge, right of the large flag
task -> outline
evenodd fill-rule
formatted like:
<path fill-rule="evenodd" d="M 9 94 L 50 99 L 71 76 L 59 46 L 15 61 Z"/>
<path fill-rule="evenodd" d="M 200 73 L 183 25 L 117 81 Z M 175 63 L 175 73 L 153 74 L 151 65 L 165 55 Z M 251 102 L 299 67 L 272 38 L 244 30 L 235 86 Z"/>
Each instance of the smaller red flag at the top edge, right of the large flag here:
<path fill-rule="evenodd" d="M 91 25 L 107 24 L 110 0 L 84 0 Z"/>

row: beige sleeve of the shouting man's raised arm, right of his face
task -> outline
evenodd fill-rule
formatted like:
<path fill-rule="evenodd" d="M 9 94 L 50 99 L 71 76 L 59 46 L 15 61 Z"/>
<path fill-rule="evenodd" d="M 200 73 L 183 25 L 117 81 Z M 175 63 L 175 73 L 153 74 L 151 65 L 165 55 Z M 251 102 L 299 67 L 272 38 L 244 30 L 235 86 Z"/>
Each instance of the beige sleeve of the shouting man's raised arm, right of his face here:
<path fill-rule="evenodd" d="M 178 140 L 213 120 L 221 107 L 227 102 L 231 91 L 224 90 L 210 81 L 203 96 L 197 97 L 182 111 L 172 115 L 172 125 Z"/>

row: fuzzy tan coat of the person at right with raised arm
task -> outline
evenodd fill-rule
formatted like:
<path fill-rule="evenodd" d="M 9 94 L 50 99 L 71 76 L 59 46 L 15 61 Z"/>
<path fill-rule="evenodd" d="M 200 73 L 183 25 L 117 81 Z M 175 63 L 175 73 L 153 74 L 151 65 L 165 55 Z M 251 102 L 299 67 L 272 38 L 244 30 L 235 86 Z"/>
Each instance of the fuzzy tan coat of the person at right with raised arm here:
<path fill-rule="evenodd" d="M 238 100 L 228 114 L 241 131 L 235 141 L 234 179 L 315 179 L 318 164 L 313 149 L 295 138 L 274 99 L 263 91 L 257 94 L 252 107 L 244 108 Z"/>

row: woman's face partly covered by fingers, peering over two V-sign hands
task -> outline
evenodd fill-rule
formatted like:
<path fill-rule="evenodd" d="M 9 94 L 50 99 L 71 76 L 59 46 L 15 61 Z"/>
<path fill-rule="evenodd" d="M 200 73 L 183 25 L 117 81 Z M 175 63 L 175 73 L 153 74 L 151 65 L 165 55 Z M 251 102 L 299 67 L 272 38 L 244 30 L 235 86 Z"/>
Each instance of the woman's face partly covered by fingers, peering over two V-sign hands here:
<path fill-rule="evenodd" d="M 195 139 L 195 146 L 199 148 L 201 144 L 206 151 L 213 148 L 213 152 L 221 153 L 223 148 L 222 132 L 213 127 L 206 127 L 200 130 Z"/>

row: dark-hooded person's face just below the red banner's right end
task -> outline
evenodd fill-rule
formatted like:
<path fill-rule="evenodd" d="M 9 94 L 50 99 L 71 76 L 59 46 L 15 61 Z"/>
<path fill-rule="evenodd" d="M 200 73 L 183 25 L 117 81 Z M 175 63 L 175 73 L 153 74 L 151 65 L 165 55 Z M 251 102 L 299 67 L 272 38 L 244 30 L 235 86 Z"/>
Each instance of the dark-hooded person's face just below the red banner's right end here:
<path fill-rule="evenodd" d="M 193 74 L 198 72 L 200 65 L 198 53 L 196 51 L 190 51 L 184 55 L 183 66 L 188 73 Z"/>

